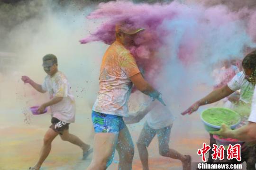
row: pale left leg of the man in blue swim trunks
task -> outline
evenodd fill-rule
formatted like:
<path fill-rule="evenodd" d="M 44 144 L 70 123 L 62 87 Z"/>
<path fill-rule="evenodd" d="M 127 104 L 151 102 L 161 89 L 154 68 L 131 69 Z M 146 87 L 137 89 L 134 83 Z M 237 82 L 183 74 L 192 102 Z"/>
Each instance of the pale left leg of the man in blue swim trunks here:
<path fill-rule="evenodd" d="M 117 141 L 118 134 L 96 133 L 94 136 L 93 156 L 87 170 L 106 170 L 113 159 Z"/>

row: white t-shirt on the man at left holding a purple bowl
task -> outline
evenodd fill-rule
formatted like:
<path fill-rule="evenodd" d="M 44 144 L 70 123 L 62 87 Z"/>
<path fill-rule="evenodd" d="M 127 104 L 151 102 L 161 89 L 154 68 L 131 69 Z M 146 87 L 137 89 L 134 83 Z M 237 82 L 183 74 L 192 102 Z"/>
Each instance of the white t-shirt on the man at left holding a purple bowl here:
<path fill-rule="evenodd" d="M 65 123 L 72 123 L 75 120 L 75 100 L 70 92 L 70 84 L 62 72 L 56 72 L 53 77 L 47 75 L 42 89 L 49 92 L 50 99 L 63 97 L 63 99 L 52 106 L 52 117 Z"/>

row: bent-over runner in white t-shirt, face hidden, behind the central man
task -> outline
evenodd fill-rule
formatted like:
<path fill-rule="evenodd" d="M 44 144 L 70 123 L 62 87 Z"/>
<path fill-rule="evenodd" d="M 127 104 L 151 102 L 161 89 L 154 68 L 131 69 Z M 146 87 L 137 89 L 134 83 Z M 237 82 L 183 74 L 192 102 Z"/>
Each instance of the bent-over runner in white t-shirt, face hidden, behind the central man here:
<path fill-rule="evenodd" d="M 137 140 L 137 148 L 143 170 L 149 170 L 147 147 L 155 137 L 158 139 L 159 154 L 182 161 L 183 170 L 191 170 L 191 156 L 183 155 L 169 148 L 170 134 L 174 116 L 168 107 L 151 102 L 146 108 L 138 111 L 135 116 L 124 118 L 126 124 L 139 122 L 145 116 L 146 122 Z"/>

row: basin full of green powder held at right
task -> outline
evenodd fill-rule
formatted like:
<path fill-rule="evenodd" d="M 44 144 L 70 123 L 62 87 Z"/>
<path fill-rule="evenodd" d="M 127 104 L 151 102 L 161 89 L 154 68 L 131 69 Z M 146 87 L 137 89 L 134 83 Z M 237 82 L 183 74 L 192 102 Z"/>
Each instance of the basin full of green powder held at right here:
<path fill-rule="evenodd" d="M 237 112 L 224 107 L 212 107 L 201 113 L 201 120 L 205 129 L 209 131 L 218 131 L 224 123 L 231 129 L 235 129 L 240 123 L 241 118 Z"/>

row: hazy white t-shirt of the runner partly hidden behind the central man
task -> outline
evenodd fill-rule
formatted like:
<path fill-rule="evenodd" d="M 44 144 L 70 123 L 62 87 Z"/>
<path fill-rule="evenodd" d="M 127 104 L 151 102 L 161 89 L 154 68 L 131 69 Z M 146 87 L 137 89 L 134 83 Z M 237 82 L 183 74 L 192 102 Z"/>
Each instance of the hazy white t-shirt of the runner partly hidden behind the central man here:
<path fill-rule="evenodd" d="M 146 114 L 146 122 L 152 129 L 161 129 L 174 122 L 174 116 L 167 106 L 154 101 L 155 107 Z"/>

